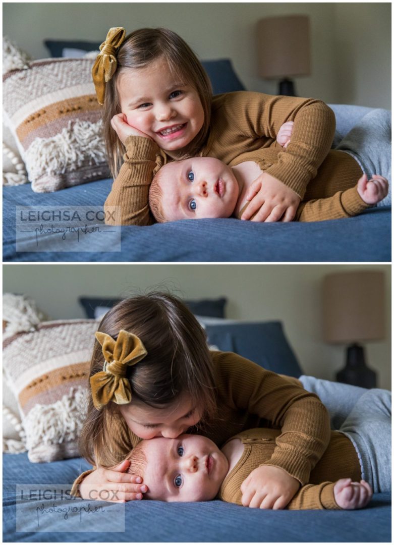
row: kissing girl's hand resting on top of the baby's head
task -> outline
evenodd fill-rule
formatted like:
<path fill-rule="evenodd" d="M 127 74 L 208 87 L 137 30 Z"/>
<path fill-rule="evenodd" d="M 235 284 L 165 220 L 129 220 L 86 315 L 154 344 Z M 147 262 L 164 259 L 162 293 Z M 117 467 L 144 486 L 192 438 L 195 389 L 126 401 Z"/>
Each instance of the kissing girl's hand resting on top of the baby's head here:
<path fill-rule="evenodd" d="M 113 469 L 96 469 L 87 475 L 79 486 L 84 500 L 102 500 L 123 503 L 130 500 L 141 500 L 148 487 L 142 485 L 138 475 L 124 473 L 130 462 L 124 460 Z M 138 482 L 140 480 L 140 482 Z"/>

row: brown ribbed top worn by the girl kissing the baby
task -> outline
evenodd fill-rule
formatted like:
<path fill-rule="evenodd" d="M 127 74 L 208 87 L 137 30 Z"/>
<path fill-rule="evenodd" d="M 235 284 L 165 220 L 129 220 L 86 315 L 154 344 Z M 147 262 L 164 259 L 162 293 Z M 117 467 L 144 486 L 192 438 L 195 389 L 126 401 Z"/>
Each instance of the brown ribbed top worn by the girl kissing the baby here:
<path fill-rule="evenodd" d="M 221 447 L 233 435 L 250 428 L 280 429 L 271 465 L 283 468 L 302 485 L 309 482 L 311 470 L 330 440 L 329 414 L 319 398 L 252 361 L 231 352 L 212 352 L 217 417 L 204 427 L 203 434 Z M 107 446 L 107 465 L 122 461 L 140 438 L 123 418 L 113 426 Z M 190 433 L 202 433 L 192 428 Z M 85 472 L 74 483 L 72 493 Z M 82 479 L 81 479 L 82 477 Z"/>

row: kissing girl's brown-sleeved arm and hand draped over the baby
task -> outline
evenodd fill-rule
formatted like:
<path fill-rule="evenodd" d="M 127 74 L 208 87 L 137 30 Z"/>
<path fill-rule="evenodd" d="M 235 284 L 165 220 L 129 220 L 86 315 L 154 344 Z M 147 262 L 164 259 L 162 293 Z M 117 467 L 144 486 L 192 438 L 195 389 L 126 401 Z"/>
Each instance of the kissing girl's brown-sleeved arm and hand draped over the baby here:
<path fill-rule="evenodd" d="M 270 460 L 252 472 L 253 479 L 245 480 L 244 505 L 253 497 L 256 474 L 261 474 L 267 507 L 275 503 L 276 508 L 286 507 L 299 486 L 308 483 L 311 470 L 329 444 L 328 411 L 317 396 L 306 392 L 295 381 L 266 371 L 241 356 L 220 353 L 215 360 L 219 397 L 225 399 L 228 406 L 228 412 L 222 415 L 223 422 L 234 419 L 231 408 L 244 409 L 260 417 L 258 426 L 268 421 L 282 431 L 276 438 Z M 223 433 L 225 428 L 223 423 Z"/>

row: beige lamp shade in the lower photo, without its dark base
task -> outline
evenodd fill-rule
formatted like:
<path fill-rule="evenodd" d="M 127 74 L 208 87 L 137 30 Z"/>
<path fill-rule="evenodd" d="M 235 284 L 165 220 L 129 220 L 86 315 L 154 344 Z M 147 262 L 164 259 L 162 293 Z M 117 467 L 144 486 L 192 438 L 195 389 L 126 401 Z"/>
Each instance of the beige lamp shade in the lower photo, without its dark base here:
<path fill-rule="evenodd" d="M 384 338 L 384 273 L 338 272 L 323 280 L 325 341 L 356 343 Z"/>

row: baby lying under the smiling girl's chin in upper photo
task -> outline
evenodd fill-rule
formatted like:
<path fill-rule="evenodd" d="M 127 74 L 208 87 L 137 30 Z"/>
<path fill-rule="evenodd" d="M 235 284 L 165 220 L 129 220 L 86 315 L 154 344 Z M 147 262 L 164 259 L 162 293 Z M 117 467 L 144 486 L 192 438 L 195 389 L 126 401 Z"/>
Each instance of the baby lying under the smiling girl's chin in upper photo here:
<path fill-rule="evenodd" d="M 278 132 L 277 142 L 283 148 L 290 143 L 292 126 L 293 122 L 285 123 Z M 243 161 L 232 167 L 212 157 L 169 162 L 153 178 L 149 207 L 158 222 L 231 216 L 243 219 L 249 202 L 258 193 L 255 180 L 261 173 L 254 161 Z M 363 174 L 355 188 L 343 187 L 343 190 L 353 191 L 353 195 L 342 199 L 337 192 L 335 196 L 302 202 L 295 220 L 317 221 L 355 215 L 383 200 L 388 187 L 389 183 L 383 176 L 373 175 L 368 180 Z M 360 198 L 355 194 L 355 189 Z M 308 206 L 305 207 L 305 204 Z M 255 210 L 256 213 L 259 208 Z M 266 221 L 278 219 L 271 214 Z M 259 221 L 258 216 L 254 221 Z"/>

